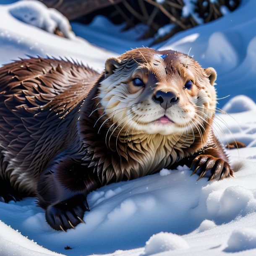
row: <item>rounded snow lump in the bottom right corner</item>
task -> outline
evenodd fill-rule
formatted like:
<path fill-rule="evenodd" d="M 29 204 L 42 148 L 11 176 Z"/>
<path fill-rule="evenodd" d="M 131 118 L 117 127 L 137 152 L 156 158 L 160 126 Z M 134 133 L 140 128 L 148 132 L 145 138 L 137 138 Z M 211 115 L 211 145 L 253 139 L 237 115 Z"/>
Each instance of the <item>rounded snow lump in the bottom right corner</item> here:
<path fill-rule="evenodd" d="M 254 248 L 256 248 L 256 229 L 247 227 L 232 232 L 224 251 L 234 253 Z"/>

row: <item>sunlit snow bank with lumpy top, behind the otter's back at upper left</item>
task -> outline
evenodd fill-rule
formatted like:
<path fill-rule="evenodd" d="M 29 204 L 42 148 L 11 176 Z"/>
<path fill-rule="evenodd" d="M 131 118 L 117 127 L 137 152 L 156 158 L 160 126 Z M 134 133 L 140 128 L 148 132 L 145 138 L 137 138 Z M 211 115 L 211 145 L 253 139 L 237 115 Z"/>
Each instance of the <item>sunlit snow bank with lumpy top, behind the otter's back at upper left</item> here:
<path fill-rule="evenodd" d="M 0 5 L 0 20 L 4 21 L 0 22 L 0 65 L 17 60 L 18 57 L 26 58 L 27 55 L 50 55 L 83 61 L 102 71 L 104 61 L 108 57 L 116 56 L 115 53 L 95 47 L 84 39 L 73 37 L 66 18 L 55 10 L 47 9 L 38 1 Z M 69 39 L 47 32 L 52 32 L 56 26 Z"/>

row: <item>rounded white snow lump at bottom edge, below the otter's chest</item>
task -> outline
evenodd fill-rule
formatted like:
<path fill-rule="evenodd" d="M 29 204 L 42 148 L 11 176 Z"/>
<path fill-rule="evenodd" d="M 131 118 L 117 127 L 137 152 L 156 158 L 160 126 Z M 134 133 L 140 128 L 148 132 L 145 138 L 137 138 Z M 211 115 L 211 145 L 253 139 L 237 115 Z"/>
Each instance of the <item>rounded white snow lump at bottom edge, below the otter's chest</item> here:
<path fill-rule="evenodd" d="M 152 235 L 152 237 L 149 238 L 149 240 L 146 242 L 144 253 L 141 255 L 149 256 L 165 251 L 174 251 L 188 248 L 189 245 L 187 241 L 181 236 L 168 232 L 160 232 L 158 234 Z"/>

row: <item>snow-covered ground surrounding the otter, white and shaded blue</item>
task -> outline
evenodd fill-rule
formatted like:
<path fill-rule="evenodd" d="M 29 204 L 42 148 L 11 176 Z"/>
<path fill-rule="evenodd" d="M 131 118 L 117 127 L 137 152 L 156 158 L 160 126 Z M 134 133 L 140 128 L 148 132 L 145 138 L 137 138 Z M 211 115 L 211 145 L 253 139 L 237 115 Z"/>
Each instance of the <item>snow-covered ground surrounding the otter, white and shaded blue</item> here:
<path fill-rule="evenodd" d="M 33 13 L 36 7 L 29 5 Z M 24 24 L 11 14 L 13 6 L 0 6 L 0 64 L 25 54 L 39 54 L 73 57 L 100 69 L 107 57 L 129 50 L 129 45 L 149 43 L 133 40 L 136 31 L 120 33 L 121 27 L 111 24 L 107 25 L 111 33 L 102 35 L 102 30 L 99 34 L 96 30 L 104 21 L 101 17 L 89 26 L 72 24 L 76 34 L 93 38 L 94 44 L 104 50 L 84 39 L 61 38 Z M 219 100 L 230 115 L 216 116 L 216 133 L 224 144 L 235 138 L 247 145 L 229 151 L 235 178 L 197 181 L 184 166 L 110 184 L 89 194 L 91 212 L 85 214 L 86 224 L 68 232 L 52 230 L 33 198 L 0 202 L 0 256 L 57 255 L 51 251 L 68 256 L 167 256 L 170 251 L 172 255 L 191 256 L 229 252 L 256 255 L 255 14 L 256 1 L 243 0 L 238 10 L 224 18 L 184 31 L 156 46 L 182 52 L 192 47 L 190 54 L 196 60 L 204 67 L 217 69 L 218 95 L 231 94 L 231 100 L 225 106 L 227 99 Z M 253 100 L 234 97 L 238 94 Z M 72 249 L 65 250 L 66 246 Z"/>

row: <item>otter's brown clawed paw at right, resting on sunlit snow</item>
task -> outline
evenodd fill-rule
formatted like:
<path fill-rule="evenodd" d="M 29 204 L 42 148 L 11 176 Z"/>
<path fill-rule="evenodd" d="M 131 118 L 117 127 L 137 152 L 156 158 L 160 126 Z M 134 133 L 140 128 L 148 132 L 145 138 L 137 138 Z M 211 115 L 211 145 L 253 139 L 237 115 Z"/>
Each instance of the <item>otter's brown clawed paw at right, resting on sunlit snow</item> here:
<path fill-rule="evenodd" d="M 192 174 L 199 175 L 199 179 L 208 178 L 208 180 L 222 180 L 228 177 L 234 177 L 234 172 L 230 165 L 221 158 L 213 157 L 211 155 L 199 155 L 192 164 Z"/>

